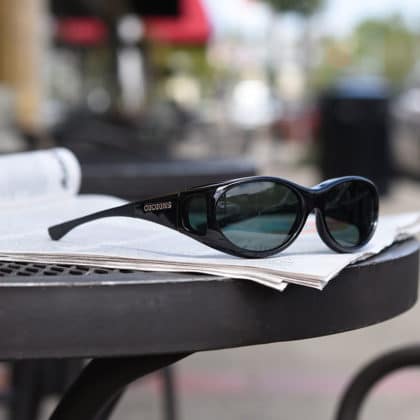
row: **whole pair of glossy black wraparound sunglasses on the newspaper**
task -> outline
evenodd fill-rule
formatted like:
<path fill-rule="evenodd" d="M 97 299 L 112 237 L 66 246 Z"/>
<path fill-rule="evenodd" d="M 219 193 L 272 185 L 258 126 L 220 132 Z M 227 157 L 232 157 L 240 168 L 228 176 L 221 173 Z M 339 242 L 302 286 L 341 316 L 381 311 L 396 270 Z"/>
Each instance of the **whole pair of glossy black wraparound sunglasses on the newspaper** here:
<path fill-rule="evenodd" d="M 266 176 L 225 181 L 136 201 L 48 229 L 58 240 L 73 228 L 102 217 L 134 217 L 159 223 L 212 248 L 261 258 L 288 247 L 312 211 L 318 233 L 337 252 L 351 252 L 372 237 L 378 193 L 366 178 L 347 176 L 305 188 Z"/>

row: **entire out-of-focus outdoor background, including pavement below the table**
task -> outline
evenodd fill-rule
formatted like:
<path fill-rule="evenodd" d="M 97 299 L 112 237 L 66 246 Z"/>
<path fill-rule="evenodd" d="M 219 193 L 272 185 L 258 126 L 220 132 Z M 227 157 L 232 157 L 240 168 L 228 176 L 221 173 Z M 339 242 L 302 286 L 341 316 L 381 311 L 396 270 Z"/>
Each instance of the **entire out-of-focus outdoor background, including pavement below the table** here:
<path fill-rule="evenodd" d="M 419 210 L 420 3 L 0 0 L 0 153 L 53 146 L 77 155 L 82 192 L 357 174 L 382 212 Z M 192 356 L 179 418 L 332 418 L 356 369 L 418 339 L 419 315 Z M 419 379 L 380 384 L 363 418 L 417 419 Z M 133 385 L 115 418 L 162 418 L 161 387 Z"/>

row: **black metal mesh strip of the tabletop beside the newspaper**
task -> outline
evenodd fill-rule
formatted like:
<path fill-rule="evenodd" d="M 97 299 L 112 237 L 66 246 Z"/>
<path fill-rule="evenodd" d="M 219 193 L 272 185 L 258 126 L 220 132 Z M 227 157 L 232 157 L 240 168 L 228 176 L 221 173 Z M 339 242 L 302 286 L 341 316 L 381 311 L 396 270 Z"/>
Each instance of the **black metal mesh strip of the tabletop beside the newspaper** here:
<path fill-rule="evenodd" d="M 9 276 L 85 276 L 89 274 L 133 273 L 133 270 L 85 267 L 80 265 L 39 264 L 19 261 L 0 261 L 0 277 Z"/>

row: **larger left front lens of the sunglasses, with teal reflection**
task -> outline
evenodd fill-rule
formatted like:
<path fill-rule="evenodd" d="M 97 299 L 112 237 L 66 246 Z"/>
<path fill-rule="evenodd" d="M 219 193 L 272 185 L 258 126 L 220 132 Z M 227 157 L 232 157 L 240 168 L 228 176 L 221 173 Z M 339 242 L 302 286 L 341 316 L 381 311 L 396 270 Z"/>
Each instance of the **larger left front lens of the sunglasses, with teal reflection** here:
<path fill-rule="evenodd" d="M 299 215 L 297 194 L 270 181 L 234 186 L 216 206 L 216 219 L 225 237 L 249 251 L 267 251 L 284 244 Z"/>

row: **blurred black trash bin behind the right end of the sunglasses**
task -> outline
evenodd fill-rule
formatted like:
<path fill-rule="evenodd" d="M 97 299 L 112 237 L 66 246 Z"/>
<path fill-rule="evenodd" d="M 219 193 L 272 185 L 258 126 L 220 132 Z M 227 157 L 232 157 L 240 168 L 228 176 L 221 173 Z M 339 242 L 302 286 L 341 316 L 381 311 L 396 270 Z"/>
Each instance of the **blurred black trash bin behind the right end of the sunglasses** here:
<path fill-rule="evenodd" d="M 361 175 L 380 194 L 391 178 L 389 89 L 379 78 L 340 80 L 320 100 L 320 165 L 324 179 Z"/>

